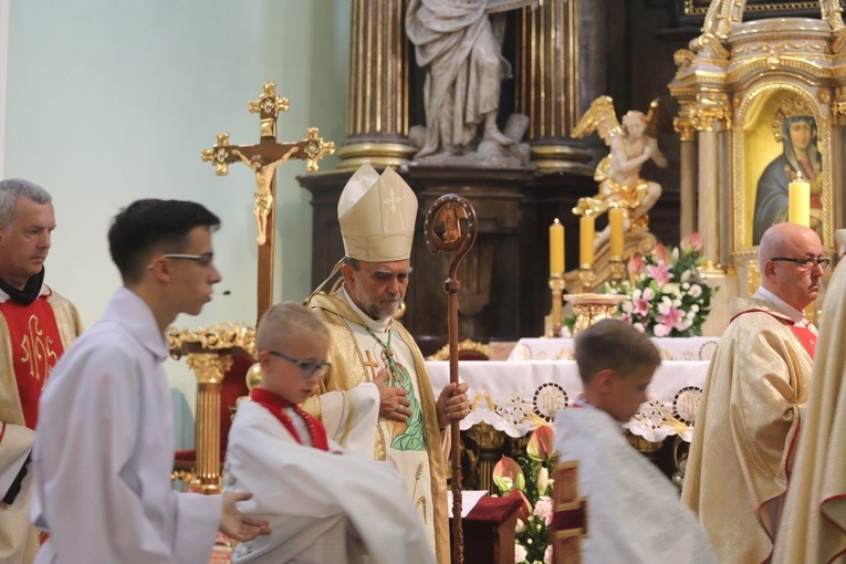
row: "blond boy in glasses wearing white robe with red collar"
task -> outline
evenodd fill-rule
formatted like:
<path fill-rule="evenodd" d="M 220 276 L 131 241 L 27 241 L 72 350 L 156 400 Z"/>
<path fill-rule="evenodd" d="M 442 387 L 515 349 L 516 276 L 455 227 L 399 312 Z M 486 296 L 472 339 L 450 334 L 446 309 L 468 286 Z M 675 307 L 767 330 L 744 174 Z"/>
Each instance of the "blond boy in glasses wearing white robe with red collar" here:
<path fill-rule="evenodd" d="M 255 492 L 241 509 L 265 518 L 273 533 L 238 545 L 232 562 L 434 563 L 396 470 L 342 456 L 323 424 L 299 406 L 330 366 L 323 323 L 285 302 L 264 314 L 255 341 L 262 379 L 250 400 L 239 404 L 226 484 Z"/>

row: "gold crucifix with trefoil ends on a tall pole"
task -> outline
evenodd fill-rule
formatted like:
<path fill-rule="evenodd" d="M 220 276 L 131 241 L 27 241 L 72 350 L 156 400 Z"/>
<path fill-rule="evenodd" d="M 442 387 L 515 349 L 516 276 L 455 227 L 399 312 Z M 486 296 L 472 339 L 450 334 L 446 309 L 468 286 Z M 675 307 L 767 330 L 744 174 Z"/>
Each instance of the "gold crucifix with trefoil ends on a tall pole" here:
<path fill-rule="evenodd" d="M 229 164 L 242 160 L 253 168 L 255 175 L 255 221 L 259 227 L 259 275 L 257 318 L 268 311 L 273 302 L 273 257 L 275 246 L 275 213 L 273 201 L 276 195 L 275 168 L 289 158 L 305 160 L 309 173 L 317 170 L 317 161 L 324 155 L 335 153 L 335 144 L 323 140 L 316 127 L 305 130 L 305 138 L 299 142 L 276 140 L 276 117 L 288 112 L 289 101 L 276 95 L 272 82 L 264 84 L 259 100 L 250 102 L 251 114 L 260 116 L 261 138 L 255 145 L 230 145 L 229 134 L 218 135 L 218 142 L 202 152 L 202 160 L 215 165 L 218 176 L 229 173 Z"/>

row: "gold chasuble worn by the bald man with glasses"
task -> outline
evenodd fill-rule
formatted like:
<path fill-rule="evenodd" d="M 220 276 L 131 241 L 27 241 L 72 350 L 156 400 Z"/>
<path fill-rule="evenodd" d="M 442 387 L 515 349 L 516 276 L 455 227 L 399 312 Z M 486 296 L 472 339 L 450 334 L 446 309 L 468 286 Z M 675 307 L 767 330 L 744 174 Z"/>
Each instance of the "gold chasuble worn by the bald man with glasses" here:
<path fill-rule="evenodd" d="M 813 359 L 793 320 L 763 295 L 735 299 L 733 313 L 708 373 L 681 499 L 721 563 L 751 564 L 772 554 Z"/>

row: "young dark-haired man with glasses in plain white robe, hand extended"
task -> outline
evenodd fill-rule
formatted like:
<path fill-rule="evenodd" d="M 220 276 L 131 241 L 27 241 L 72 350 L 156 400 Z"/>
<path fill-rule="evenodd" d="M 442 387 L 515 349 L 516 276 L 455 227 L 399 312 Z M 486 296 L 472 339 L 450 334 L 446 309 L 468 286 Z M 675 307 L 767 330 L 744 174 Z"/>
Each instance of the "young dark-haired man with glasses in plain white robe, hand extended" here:
<path fill-rule="evenodd" d="M 170 489 L 174 429 L 161 363 L 165 330 L 196 315 L 220 282 L 199 203 L 138 200 L 114 219 L 108 244 L 124 285 L 103 317 L 56 364 L 41 396 L 32 518 L 49 533 L 36 563 L 206 563 L 218 530 L 268 533 L 241 514 L 246 492 Z"/>

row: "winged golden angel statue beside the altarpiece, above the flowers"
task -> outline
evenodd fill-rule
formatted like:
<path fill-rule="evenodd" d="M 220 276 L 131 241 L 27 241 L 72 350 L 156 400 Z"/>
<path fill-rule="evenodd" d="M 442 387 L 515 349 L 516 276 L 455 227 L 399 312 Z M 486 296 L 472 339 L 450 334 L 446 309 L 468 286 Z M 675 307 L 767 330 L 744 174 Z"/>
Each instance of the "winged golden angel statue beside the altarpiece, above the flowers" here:
<path fill-rule="evenodd" d="M 661 196 L 658 182 L 640 178 L 644 163 L 652 159 L 664 168 L 667 158 L 658 149 L 656 134 L 667 127 L 669 118 L 658 98 L 649 104 L 649 113 L 630 111 L 623 116 L 623 124 L 617 122 L 614 101 L 610 96 L 599 96 L 573 128 L 571 137 L 579 138 L 597 132 L 610 153 L 596 166 L 594 180 L 599 182 L 599 191 L 594 197 L 579 198 L 573 213 L 576 216 L 599 216 L 616 207 L 627 210 L 624 230 L 633 227 L 649 227 L 647 212 Z M 600 248 L 610 236 L 606 227 L 594 241 L 594 248 Z"/>

